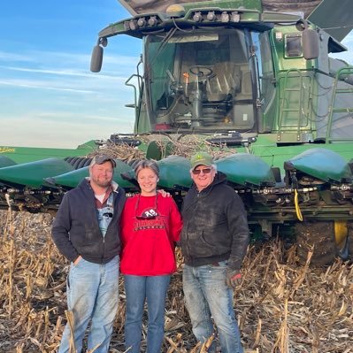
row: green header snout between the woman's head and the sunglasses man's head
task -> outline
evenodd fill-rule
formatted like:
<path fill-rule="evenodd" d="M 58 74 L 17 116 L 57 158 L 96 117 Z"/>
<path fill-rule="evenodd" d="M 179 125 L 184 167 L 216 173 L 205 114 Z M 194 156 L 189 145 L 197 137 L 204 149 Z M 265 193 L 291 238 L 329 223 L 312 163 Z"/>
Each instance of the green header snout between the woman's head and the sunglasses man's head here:
<path fill-rule="evenodd" d="M 161 188 L 188 188 L 191 185 L 190 162 L 185 157 L 169 156 L 157 161 L 158 186 Z"/>

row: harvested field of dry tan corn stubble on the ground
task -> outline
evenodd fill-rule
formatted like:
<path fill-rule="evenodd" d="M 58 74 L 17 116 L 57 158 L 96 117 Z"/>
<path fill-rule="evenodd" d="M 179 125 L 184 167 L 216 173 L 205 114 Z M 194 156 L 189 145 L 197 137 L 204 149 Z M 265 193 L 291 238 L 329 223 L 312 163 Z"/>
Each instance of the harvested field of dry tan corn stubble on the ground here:
<path fill-rule="evenodd" d="M 0 211 L 0 352 L 54 352 L 66 318 L 68 264 L 50 239 L 52 216 Z M 181 264 L 180 251 L 177 251 Z M 309 261 L 308 261 L 309 263 Z M 183 303 L 182 265 L 173 275 L 165 311 L 163 352 L 196 352 Z M 124 352 L 125 295 L 111 352 Z M 298 265 L 295 247 L 280 240 L 253 245 L 234 307 L 247 352 L 353 352 L 353 265 Z M 146 330 L 144 320 L 143 334 Z M 144 342 L 142 342 L 144 351 Z M 206 351 L 206 350 L 203 350 Z"/>

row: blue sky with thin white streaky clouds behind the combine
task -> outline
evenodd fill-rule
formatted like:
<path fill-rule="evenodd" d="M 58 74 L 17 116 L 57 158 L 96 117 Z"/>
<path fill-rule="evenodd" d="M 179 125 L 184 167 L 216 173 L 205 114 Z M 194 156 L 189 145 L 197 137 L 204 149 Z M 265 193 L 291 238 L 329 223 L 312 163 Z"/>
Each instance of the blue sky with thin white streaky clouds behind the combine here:
<path fill-rule="evenodd" d="M 101 73 L 90 73 L 97 33 L 129 17 L 117 0 L 3 2 L 0 12 L 0 145 L 75 148 L 131 133 L 135 72 L 142 43 L 112 37 Z M 353 35 L 341 58 L 353 64 Z"/>

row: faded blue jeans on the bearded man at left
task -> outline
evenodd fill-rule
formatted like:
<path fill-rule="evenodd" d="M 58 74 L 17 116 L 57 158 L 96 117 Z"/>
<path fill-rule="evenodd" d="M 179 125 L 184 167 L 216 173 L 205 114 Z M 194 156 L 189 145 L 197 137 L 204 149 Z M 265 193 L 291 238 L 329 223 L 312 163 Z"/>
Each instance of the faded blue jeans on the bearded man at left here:
<path fill-rule="evenodd" d="M 119 256 L 104 265 L 81 258 L 70 265 L 67 279 L 67 306 L 73 312 L 75 352 L 81 353 L 89 321 L 88 350 L 108 353 L 112 326 L 119 303 Z M 70 328 L 65 326 L 58 353 L 69 352 Z"/>

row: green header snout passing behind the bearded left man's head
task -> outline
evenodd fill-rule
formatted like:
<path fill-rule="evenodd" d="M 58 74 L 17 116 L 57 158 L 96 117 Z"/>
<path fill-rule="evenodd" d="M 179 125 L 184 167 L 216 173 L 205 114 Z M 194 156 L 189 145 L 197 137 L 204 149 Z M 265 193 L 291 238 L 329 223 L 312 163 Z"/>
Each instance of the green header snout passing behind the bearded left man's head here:
<path fill-rule="evenodd" d="M 132 167 L 119 159 L 115 159 L 115 162 L 117 166 L 114 169 L 113 180 L 116 181 L 121 188 L 131 188 L 131 183 L 121 178 L 120 173 L 130 172 L 132 171 Z M 44 180 L 44 185 L 76 188 L 80 184 L 81 180 L 88 177 L 88 175 L 88 166 L 86 166 L 69 173 L 46 178 Z"/>

